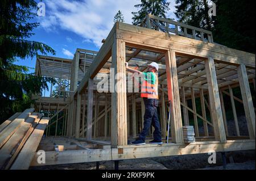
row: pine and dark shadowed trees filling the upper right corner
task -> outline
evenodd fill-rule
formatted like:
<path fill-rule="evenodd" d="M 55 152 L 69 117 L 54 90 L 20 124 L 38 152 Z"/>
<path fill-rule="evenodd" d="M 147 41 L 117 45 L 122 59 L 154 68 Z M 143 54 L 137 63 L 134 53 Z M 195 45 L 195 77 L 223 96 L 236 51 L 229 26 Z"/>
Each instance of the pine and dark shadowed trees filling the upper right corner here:
<path fill-rule="evenodd" d="M 216 16 L 208 15 L 208 2 L 216 3 Z M 213 32 L 216 43 L 255 53 L 254 1 L 175 0 L 179 22 Z"/>

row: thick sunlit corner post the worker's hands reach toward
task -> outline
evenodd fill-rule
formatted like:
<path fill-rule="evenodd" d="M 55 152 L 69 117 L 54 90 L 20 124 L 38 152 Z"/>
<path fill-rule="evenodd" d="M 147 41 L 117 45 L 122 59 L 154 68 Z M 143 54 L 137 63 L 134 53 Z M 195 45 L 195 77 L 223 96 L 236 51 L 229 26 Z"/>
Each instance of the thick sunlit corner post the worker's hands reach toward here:
<path fill-rule="evenodd" d="M 126 110 L 126 68 L 125 42 L 114 39 L 112 46 L 112 68 L 117 77 L 113 80 L 115 89 L 111 96 L 112 121 L 111 142 L 113 148 L 117 145 L 127 145 L 127 110 Z"/>

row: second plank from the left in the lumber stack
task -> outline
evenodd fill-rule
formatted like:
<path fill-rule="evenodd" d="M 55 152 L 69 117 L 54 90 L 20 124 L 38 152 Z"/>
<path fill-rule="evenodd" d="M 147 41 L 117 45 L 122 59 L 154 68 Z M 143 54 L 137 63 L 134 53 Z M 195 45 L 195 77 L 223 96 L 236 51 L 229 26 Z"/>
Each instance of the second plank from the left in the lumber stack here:
<path fill-rule="evenodd" d="M 0 136 L 0 148 L 2 148 L 6 141 L 9 140 L 13 133 L 20 127 L 20 124 L 24 122 L 34 110 L 34 108 L 25 110 L 15 120 L 13 120 L 9 125 L 7 125 L 5 129 L 3 129 Z"/>

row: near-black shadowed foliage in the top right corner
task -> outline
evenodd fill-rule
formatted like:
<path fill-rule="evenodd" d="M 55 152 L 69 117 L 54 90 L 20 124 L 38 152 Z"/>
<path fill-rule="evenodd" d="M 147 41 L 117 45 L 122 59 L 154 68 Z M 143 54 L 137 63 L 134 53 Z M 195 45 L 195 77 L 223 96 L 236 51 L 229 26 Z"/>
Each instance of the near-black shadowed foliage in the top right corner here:
<path fill-rule="evenodd" d="M 227 47 L 255 53 L 254 1 L 216 1 L 213 39 Z"/>

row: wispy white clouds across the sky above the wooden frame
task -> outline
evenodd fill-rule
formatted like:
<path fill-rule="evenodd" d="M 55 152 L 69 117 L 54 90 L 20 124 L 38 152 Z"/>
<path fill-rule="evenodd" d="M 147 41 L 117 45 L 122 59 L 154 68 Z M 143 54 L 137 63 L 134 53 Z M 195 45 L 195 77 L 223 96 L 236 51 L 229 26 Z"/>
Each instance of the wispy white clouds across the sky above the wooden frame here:
<path fill-rule="evenodd" d="M 62 28 L 80 35 L 84 42 L 90 42 L 101 47 L 102 39 L 106 39 L 113 27 L 114 15 L 118 10 L 122 11 L 125 23 L 131 24 L 133 15 L 137 11 L 134 5 L 138 0 L 82 0 L 68 1 L 46 0 L 46 16 L 41 22 L 46 30 Z M 173 14 L 167 13 L 168 18 Z M 171 17 L 173 18 L 173 17 Z"/>

